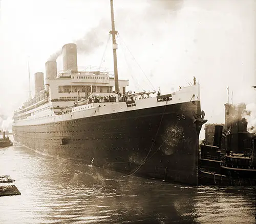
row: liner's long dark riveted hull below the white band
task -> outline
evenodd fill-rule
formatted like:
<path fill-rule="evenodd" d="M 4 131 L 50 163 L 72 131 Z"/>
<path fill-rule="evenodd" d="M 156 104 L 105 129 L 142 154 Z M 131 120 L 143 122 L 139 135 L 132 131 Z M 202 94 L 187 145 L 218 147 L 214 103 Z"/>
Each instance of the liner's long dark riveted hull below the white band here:
<path fill-rule="evenodd" d="M 44 154 L 122 173 L 198 184 L 200 101 L 37 126 L 13 126 L 15 141 Z M 194 114 L 195 114 L 194 113 Z M 201 128 L 201 126 L 200 126 Z M 139 169 L 137 169 L 139 167 Z"/>

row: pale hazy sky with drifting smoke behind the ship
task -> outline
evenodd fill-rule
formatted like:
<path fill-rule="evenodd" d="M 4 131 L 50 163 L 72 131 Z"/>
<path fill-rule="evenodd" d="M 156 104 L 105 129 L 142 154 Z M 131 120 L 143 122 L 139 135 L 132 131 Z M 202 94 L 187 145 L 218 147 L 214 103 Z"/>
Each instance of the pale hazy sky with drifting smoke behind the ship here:
<path fill-rule="evenodd" d="M 255 102 L 256 1 L 114 1 L 120 78 L 135 90 L 162 92 L 201 84 L 201 108 L 208 122 L 224 122 L 227 86 L 234 103 Z M 78 67 L 113 70 L 109 0 L 2 0 L 0 22 L 0 114 L 28 96 L 28 57 L 33 74 L 63 44 L 78 44 Z M 123 42 L 125 44 L 123 44 Z M 133 57 L 129 51 L 132 52 Z M 61 57 L 57 59 L 62 70 Z"/>

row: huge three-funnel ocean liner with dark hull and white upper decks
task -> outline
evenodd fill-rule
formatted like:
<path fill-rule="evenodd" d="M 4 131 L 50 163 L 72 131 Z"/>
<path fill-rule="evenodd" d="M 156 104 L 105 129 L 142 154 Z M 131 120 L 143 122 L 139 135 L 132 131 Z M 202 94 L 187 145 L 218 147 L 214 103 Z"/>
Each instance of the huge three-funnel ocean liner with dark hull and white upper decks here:
<path fill-rule="evenodd" d="M 35 73 L 35 96 L 14 112 L 16 142 L 40 153 L 165 181 L 198 183 L 198 138 L 206 122 L 194 83 L 161 95 L 126 90 L 118 80 L 111 2 L 114 78 L 101 69 L 79 71 L 75 44 Z M 115 91 L 113 91 L 115 87 Z"/>

